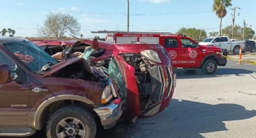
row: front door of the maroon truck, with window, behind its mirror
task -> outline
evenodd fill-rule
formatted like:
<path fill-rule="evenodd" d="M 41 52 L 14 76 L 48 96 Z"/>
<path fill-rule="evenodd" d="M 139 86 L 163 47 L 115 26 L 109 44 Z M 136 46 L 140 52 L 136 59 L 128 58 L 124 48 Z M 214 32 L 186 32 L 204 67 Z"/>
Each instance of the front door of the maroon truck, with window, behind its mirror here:
<path fill-rule="evenodd" d="M 0 65 L 7 64 L 13 80 L 0 84 L 0 127 L 25 126 L 30 106 L 30 76 L 0 47 Z"/>

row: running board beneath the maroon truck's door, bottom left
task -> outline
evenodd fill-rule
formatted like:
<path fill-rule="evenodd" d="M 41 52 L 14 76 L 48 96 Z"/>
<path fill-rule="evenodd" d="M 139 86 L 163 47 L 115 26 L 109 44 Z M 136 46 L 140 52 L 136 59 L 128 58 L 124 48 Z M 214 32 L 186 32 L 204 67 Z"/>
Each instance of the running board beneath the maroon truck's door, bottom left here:
<path fill-rule="evenodd" d="M 28 137 L 36 133 L 36 130 L 29 127 L 22 128 L 0 128 L 0 136 Z"/>

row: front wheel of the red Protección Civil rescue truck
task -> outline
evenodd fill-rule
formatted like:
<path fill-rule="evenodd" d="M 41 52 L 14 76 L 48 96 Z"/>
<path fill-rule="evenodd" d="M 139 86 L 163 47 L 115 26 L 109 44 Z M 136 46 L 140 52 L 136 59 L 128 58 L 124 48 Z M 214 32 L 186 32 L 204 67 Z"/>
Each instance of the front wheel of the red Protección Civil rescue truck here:
<path fill-rule="evenodd" d="M 217 70 L 217 63 L 213 59 L 207 59 L 207 61 L 202 64 L 202 71 L 205 74 L 213 74 Z"/>

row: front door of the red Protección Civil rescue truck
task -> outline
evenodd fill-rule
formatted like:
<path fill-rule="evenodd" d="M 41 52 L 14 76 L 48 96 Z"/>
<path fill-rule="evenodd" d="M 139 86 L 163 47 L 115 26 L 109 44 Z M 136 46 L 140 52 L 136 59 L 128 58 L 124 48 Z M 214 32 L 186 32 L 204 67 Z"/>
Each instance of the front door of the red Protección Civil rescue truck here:
<path fill-rule="evenodd" d="M 202 61 L 202 50 L 198 48 L 195 41 L 188 38 L 180 38 L 181 50 L 180 59 L 183 61 L 183 67 L 194 68 L 199 67 Z"/>

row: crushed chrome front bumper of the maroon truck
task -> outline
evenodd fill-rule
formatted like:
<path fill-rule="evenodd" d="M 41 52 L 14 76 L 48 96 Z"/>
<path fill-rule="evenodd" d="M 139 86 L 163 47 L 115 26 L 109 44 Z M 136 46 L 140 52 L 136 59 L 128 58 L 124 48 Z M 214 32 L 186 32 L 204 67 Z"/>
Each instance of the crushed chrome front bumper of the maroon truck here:
<path fill-rule="evenodd" d="M 101 119 L 101 124 L 105 129 L 111 128 L 116 125 L 117 119 L 122 115 L 122 101 L 120 98 L 112 101 L 107 106 L 98 107 L 95 112 L 98 114 Z"/>

